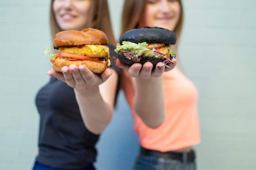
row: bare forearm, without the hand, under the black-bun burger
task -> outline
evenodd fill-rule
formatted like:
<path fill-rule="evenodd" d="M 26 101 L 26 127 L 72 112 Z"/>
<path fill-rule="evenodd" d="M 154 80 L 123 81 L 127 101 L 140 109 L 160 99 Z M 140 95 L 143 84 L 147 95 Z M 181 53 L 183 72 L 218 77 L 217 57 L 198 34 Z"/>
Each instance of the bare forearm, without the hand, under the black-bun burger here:
<path fill-rule="evenodd" d="M 157 128 L 165 117 L 162 76 L 135 79 L 134 106 L 137 114 L 150 128 Z"/>

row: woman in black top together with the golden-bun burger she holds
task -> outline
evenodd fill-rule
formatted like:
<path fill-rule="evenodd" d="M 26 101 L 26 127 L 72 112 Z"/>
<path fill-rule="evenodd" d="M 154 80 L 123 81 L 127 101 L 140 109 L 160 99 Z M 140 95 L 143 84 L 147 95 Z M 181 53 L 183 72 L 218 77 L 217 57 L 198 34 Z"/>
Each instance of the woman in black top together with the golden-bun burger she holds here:
<path fill-rule="evenodd" d="M 36 94 L 34 170 L 95 170 L 95 144 L 112 119 L 121 77 L 115 65 L 107 68 L 116 56 L 108 1 L 52 0 L 50 21 L 59 52 L 50 54 L 52 77 Z"/>

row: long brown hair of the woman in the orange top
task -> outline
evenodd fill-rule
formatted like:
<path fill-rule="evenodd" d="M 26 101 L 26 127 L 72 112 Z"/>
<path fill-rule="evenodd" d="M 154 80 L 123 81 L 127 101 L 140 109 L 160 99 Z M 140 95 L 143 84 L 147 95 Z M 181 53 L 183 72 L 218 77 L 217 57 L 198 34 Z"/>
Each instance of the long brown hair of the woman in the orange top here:
<path fill-rule="evenodd" d="M 180 20 L 173 32 L 180 37 L 183 24 L 183 8 L 180 2 Z M 130 29 L 138 28 L 138 21 L 145 10 L 147 0 L 125 0 L 122 12 L 121 34 L 124 34 Z"/>

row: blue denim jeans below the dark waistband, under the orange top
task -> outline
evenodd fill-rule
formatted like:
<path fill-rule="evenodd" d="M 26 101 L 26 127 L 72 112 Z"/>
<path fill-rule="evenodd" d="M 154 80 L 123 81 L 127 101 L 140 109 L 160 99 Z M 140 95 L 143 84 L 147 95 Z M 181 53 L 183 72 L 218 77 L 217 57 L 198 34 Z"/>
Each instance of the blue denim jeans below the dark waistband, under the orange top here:
<path fill-rule="evenodd" d="M 139 155 L 133 170 L 195 170 L 195 162 Z"/>

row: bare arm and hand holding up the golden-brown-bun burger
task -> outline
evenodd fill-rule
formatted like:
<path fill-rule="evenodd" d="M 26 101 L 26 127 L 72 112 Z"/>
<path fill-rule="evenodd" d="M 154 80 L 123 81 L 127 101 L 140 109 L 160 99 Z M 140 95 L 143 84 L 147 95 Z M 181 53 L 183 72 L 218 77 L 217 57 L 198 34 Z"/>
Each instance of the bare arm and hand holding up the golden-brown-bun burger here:
<path fill-rule="evenodd" d="M 62 72 L 51 70 L 48 75 L 74 88 L 86 128 L 94 134 L 100 134 L 112 119 L 117 73 L 108 68 L 100 75 L 93 74 L 83 65 L 63 67 Z"/>

